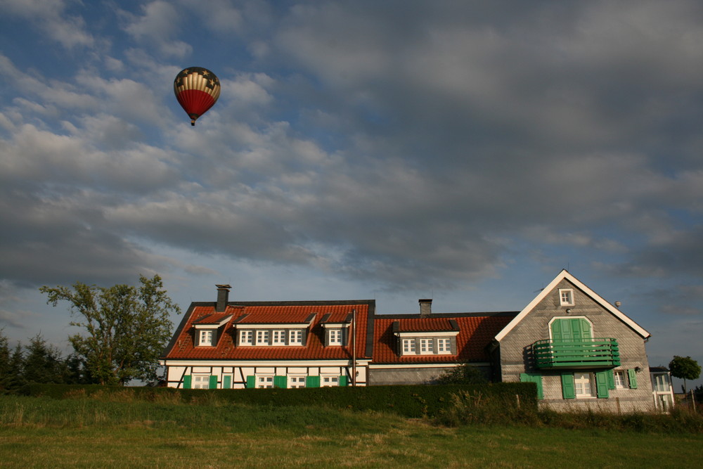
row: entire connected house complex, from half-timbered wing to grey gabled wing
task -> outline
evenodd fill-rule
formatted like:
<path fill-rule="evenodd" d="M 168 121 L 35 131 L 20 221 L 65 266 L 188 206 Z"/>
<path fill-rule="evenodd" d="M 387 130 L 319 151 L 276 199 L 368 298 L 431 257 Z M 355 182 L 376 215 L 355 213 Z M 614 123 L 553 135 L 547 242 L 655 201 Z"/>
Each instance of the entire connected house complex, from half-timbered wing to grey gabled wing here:
<path fill-rule="evenodd" d="M 217 288 L 165 350 L 169 387 L 433 383 L 469 363 L 496 382 L 536 383 L 555 410 L 649 411 L 652 396 L 669 399 L 652 390 L 650 333 L 566 270 L 522 311 L 496 313 L 437 314 L 430 299 L 419 314 L 376 314 L 375 300 L 238 302 Z"/>

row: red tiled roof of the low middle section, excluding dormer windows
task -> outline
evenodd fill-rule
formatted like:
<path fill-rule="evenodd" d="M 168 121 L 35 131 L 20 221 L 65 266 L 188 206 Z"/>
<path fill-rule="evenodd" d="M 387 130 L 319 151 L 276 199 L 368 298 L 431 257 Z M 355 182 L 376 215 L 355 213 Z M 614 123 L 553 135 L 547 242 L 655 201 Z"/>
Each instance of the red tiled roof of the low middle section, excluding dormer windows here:
<path fill-rule="evenodd" d="M 499 314 L 432 314 L 428 318 L 418 316 L 374 316 L 373 362 L 377 364 L 394 363 L 447 363 L 455 361 L 489 361 L 486 346 L 517 313 Z M 458 354 L 455 355 L 411 355 L 398 356 L 397 340 L 393 334 L 393 323 L 399 321 L 399 330 L 410 331 L 444 331 L 452 330 L 449 320 L 456 321 L 459 333 L 456 336 Z"/>

